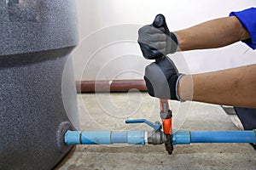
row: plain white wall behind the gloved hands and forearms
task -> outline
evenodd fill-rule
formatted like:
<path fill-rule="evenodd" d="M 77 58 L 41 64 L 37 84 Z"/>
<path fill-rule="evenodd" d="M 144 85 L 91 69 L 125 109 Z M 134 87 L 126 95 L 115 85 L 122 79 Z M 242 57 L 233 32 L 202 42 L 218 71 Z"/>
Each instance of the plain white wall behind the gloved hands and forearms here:
<path fill-rule="evenodd" d="M 255 6 L 254 0 L 76 0 L 79 46 L 73 52 L 76 80 L 143 78 L 137 44 L 139 27 L 164 14 L 171 31 L 228 16 Z M 196 40 L 195 40 L 196 41 Z M 225 48 L 171 55 L 180 71 L 206 72 L 256 63 L 256 52 L 242 42 Z"/>

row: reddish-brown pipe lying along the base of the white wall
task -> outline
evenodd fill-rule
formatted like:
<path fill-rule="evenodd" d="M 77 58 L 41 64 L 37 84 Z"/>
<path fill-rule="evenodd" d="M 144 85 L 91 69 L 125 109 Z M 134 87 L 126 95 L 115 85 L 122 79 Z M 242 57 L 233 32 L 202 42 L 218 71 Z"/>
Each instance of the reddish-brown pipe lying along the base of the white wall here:
<path fill-rule="evenodd" d="M 76 86 L 78 93 L 126 92 L 132 88 L 141 92 L 146 92 L 148 90 L 144 80 L 77 81 Z"/>

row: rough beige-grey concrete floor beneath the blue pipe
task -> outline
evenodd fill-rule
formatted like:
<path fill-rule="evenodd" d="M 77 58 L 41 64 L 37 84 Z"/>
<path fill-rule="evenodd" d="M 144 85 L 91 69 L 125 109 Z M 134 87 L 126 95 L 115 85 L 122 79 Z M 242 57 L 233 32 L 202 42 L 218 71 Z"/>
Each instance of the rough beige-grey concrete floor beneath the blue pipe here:
<path fill-rule="evenodd" d="M 151 130 L 125 125 L 126 119 L 160 121 L 159 101 L 148 94 L 79 94 L 81 130 Z M 219 105 L 170 101 L 175 129 L 238 130 Z M 249 144 L 78 145 L 60 163 L 67 169 L 256 169 L 256 152 Z"/>

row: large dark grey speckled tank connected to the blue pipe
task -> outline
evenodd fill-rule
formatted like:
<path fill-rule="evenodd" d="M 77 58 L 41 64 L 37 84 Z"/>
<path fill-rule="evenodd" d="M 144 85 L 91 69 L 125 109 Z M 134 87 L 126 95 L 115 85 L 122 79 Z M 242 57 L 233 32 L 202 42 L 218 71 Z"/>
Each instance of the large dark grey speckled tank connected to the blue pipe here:
<path fill-rule="evenodd" d="M 51 169 L 79 126 L 75 1 L 0 0 L 0 29 L 0 169 Z"/>

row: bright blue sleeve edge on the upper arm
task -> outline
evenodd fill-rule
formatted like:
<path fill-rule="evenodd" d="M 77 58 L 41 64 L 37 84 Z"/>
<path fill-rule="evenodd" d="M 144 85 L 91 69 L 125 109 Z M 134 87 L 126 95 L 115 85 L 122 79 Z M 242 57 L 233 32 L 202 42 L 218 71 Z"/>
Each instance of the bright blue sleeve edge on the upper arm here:
<path fill-rule="evenodd" d="M 251 38 L 243 40 L 250 48 L 256 49 L 256 8 L 247 8 L 240 12 L 232 12 L 230 16 L 236 16 L 250 33 Z"/>

